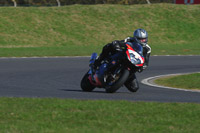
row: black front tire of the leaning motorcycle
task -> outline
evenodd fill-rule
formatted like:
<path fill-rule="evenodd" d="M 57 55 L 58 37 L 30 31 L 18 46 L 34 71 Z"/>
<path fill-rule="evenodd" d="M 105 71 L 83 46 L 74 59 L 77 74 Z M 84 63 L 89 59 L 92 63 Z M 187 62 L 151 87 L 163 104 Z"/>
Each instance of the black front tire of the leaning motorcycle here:
<path fill-rule="evenodd" d="M 129 76 L 129 71 L 127 69 L 122 70 L 121 77 L 112 86 L 106 87 L 106 92 L 107 93 L 116 92 L 124 84 L 124 82 L 126 82 L 128 76 Z"/>

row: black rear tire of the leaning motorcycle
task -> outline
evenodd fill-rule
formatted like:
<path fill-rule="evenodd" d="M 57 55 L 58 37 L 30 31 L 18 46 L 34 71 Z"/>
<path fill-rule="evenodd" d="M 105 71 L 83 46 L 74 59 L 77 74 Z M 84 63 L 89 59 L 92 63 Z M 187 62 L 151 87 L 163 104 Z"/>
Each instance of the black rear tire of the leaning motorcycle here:
<path fill-rule="evenodd" d="M 83 78 L 81 80 L 81 88 L 82 88 L 83 91 L 91 92 L 91 91 L 94 90 L 95 86 L 90 83 L 88 77 L 89 77 L 88 73 L 86 73 L 83 76 Z"/>

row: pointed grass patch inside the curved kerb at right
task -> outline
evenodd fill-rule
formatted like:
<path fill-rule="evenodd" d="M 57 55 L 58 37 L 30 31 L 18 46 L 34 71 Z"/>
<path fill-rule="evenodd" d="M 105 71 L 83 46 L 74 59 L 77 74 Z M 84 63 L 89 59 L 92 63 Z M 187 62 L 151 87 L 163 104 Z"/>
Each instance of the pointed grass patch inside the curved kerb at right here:
<path fill-rule="evenodd" d="M 155 83 L 175 88 L 200 90 L 200 73 L 160 78 L 155 80 Z"/>

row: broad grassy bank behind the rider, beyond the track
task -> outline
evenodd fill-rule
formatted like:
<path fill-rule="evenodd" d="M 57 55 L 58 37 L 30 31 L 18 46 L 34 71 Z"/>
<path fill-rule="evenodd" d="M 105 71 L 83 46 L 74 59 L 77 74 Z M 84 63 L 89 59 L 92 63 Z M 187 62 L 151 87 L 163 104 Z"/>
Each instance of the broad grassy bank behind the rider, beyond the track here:
<path fill-rule="evenodd" d="M 1 7 L 0 56 L 74 56 L 149 33 L 154 55 L 200 55 L 199 5 L 71 5 Z"/>

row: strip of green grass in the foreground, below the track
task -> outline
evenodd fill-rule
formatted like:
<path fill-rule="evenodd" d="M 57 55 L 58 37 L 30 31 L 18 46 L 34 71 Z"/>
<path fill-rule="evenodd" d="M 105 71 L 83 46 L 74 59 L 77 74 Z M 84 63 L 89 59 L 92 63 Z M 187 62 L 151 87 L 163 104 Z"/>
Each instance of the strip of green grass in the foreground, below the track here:
<path fill-rule="evenodd" d="M 1 132 L 200 131 L 200 104 L 0 98 Z"/>

